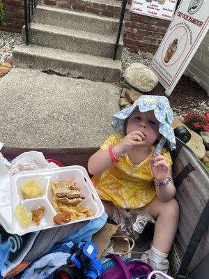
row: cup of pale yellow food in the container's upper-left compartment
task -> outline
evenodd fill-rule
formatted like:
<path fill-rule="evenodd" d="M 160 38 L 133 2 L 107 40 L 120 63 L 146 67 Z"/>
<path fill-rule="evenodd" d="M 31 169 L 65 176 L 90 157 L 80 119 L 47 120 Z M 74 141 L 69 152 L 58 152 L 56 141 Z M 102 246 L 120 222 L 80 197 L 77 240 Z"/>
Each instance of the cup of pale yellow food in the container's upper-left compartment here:
<path fill-rule="evenodd" d="M 24 197 L 29 199 L 33 199 L 33 197 L 41 197 L 43 195 L 42 187 L 33 180 L 23 183 L 21 188 Z"/>

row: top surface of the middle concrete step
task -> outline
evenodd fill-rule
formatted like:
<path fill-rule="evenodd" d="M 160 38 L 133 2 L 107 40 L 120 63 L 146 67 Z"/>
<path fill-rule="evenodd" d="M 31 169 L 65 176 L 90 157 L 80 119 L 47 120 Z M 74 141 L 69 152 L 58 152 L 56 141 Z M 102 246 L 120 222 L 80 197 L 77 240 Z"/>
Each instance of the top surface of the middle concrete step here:
<path fill-rule="evenodd" d="M 95 42 L 105 42 L 105 43 L 116 43 L 115 36 L 107 36 L 102 34 L 90 33 L 86 31 L 80 31 L 75 29 L 68 29 L 64 27 L 55 27 L 52 25 L 32 23 L 31 29 L 36 29 L 40 31 L 45 31 L 54 34 L 61 34 L 64 36 L 71 36 L 75 38 L 84 38 L 88 40 L 94 40 Z M 121 38 L 119 45 L 123 45 L 123 39 Z"/>

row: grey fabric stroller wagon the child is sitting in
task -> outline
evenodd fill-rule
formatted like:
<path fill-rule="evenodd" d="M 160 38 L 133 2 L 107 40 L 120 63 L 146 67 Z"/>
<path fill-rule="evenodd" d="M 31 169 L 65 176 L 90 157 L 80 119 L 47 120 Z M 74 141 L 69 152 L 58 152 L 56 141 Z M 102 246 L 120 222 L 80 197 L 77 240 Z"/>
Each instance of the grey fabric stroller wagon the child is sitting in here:
<path fill-rule="evenodd" d="M 176 138 L 177 148 L 171 152 L 176 199 L 180 220 L 176 239 L 169 255 L 176 279 L 206 279 L 209 274 L 209 173 L 194 152 Z M 24 149 L 3 146 L 1 152 L 13 159 Z M 87 167 L 88 158 L 98 148 L 36 149 L 45 158 L 54 158 L 63 165 Z M 145 230 L 146 232 L 146 230 Z"/>

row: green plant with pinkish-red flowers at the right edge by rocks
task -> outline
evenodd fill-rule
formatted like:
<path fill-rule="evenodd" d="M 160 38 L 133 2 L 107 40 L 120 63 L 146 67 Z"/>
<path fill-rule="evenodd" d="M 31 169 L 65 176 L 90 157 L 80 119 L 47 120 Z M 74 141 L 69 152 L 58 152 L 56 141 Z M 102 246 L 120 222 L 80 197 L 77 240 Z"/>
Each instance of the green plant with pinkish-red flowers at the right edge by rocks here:
<path fill-rule="evenodd" d="M 201 132 L 209 131 L 209 112 L 203 114 L 191 113 L 183 118 L 183 123 L 194 132 L 200 134 Z"/>

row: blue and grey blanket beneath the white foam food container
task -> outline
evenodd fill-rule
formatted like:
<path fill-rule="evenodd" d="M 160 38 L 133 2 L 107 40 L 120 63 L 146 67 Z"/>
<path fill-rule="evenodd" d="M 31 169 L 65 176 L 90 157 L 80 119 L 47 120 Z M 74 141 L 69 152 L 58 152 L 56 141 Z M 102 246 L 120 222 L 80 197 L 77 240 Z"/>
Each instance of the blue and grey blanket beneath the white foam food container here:
<path fill-rule="evenodd" d="M 0 278 L 6 276 L 11 269 L 13 269 L 13 275 L 17 274 L 16 270 L 18 271 L 19 269 L 17 266 L 20 266 L 20 263 L 22 262 L 33 263 L 24 273 L 24 276 L 27 276 L 27 272 L 30 272 L 31 269 L 38 269 L 37 266 L 41 266 L 41 269 L 45 269 L 47 272 L 50 271 L 50 257 L 53 262 L 54 253 L 65 253 L 68 257 L 69 250 L 74 243 L 90 240 L 91 236 L 95 234 L 95 232 L 98 232 L 104 226 L 106 221 L 107 214 L 104 213 L 100 218 L 91 221 L 54 227 L 52 229 L 44 229 L 42 231 L 24 234 L 23 236 L 8 234 L 0 225 Z M 59 266 L 59 264 L 65 263 L 65 257 L 61 257 L 61 262 L 58 261 L 59 255 L 56 258 L 55 266 L 54 264 L 51 266 L 52 272 L 57 266 Z M 37 265 L 33 266 L 38 259 L 40 262 L 41 259 L 44 259 L 49 262 L 49 264 L 45 262 L 42 266 L 39 262 Z M 33 276 L 24 276 L 22 278 L 36 278 Z"/>

